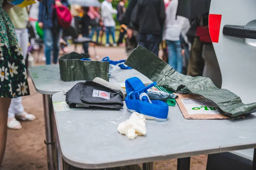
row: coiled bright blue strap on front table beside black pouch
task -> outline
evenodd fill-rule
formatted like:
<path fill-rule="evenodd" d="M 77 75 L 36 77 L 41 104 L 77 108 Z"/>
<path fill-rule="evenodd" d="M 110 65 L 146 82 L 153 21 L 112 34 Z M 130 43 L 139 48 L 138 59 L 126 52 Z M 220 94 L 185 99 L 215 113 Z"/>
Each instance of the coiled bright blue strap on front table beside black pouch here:
<path fill-rule="evenodd" d="M 147 93 L 147 89 L 156 85 L 154 82 L 151 85 L 145 87 L 143 82 L 138 77 L 132 77 L 125 81 L 125 88 L 127 97 L 125 97 L 125 103 L 128 109 L 135 110 L 138 113 L 142 113 L 148 116 L 153 116 L 160 119 L 167 119 L 169 106 L 166 102 L 160 100 L 140 100 L 140 94 Z"/>

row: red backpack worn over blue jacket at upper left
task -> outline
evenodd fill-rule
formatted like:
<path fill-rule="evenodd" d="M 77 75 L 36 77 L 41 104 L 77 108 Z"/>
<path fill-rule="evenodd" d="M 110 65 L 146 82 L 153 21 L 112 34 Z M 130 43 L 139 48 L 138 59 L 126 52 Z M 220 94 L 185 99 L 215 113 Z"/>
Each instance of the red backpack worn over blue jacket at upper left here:
<path fill-rule="evenodd" d="M 62 28 L 69 28 L 72 21 L 70 10 L 66 6 L 53 6 L 56 11 L 58 23 Z"/>

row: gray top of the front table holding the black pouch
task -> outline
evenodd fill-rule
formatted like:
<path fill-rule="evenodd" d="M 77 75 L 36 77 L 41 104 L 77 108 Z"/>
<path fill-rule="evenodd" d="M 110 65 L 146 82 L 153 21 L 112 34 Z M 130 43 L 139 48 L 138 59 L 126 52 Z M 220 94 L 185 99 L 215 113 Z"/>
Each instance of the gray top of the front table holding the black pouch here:
<path fill-rule="evenodd" d="M 64 93 L 52 96 L 65 101 Z M 164 122 L 148 120 L 146 136 L 128 140 L 117 131 L 131 112 L 84 109 L 55 112 L 60 148 L 67 163 L 97 169 L 256 147 L 256 113 L 237 120 L 184 119 L 169 107 Z"/>

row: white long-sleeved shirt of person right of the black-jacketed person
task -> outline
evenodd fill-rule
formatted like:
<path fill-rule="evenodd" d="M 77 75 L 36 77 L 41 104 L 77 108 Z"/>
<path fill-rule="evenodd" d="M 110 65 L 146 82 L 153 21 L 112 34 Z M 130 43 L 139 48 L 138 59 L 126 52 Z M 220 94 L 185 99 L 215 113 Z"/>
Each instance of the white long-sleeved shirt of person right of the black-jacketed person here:
<path fill-rule="evenodd" d="M 164 40 L 178 41 L 181 32 L 187 32 L 190 28 L 190 24 L 187 25 L 189 23 L 187 18 L 177 16 L 176 19 L 177 7 L 178 0 L 172 0 L 166 8 Z"/>

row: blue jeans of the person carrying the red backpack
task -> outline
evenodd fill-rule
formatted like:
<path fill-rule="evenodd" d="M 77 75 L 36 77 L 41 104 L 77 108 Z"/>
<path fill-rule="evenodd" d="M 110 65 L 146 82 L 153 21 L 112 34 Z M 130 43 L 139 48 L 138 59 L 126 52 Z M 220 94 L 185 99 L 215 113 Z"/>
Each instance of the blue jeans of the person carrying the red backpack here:
<path fill-rule="evenodd" d="M 51 64 L 51 52 L 53 51 L 53 63 L 58 63 L 59 41 L 61 37 L 61 29 L 53 31 L 52 29 L 44 29 L 44 54 L 46 64 Z"/>

